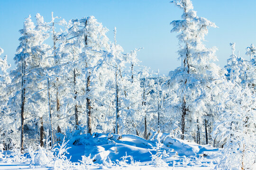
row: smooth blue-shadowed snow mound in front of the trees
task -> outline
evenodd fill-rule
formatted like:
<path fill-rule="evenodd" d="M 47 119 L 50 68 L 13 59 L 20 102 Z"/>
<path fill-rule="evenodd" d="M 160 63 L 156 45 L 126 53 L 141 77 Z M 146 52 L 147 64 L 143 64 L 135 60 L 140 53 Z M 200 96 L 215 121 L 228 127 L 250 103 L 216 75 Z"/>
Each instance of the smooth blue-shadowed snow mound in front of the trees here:
<path fill-rule="evenodd" d="M 159 134 L 158 134 L 159 135 Z M 156 136 L 153 135 L 150 140 L 145 140 L 135 135 L 104 135 L 94 133 L 74 136 L 70 139 L 68 145 L 71 161 L 82 160 L 82 156 L 91 156 L 94 163 L 103 163 L 106 160 L 121 161 L 121 157 L 132 156 L 133 161 L 151 161 L 152 154 L 155 154 L 153 147 L 156 146 Z M 210 145 L 200 145 L 187 142 L 171 136 L 170 134 L 161 134 L 161 143 L 164 144 L 161 150 L 170 157 L 178 156 L 197 156 L 204 153 L 219 152 L 218 148 Z M 130 160 L 128 160 L 130 163 Z"/>

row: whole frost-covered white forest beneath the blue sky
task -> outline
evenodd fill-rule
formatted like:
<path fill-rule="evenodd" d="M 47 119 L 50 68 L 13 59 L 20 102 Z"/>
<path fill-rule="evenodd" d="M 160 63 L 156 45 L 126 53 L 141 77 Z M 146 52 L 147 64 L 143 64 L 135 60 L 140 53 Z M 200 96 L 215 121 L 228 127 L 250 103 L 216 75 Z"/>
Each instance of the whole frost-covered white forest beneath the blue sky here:
<path fill-rule="evenodd" d="M 191 0 L 172 3 L 183 11 L 170 23 L 181 65 L 168 76 L 141 65 L 142 48 L 124 53 L 117 28 L 111 42 L 110 30 L 93 16 L 69 21 L 53 12 L 50 21 L 39 13 L 28 16 L 19 30 L 15 68 L 10 69 L 7 56 L 0 58 L 0 162 L 29 159 L 31 165 L 54 169 L 89 169 L 100 158 L 90 153 L 89 159 L 88 153 L 74 165 L 66 146 L 129 138 L 148 141 L 152 164 L 175 167 L 168 161 L 176 151 L 166 151 L 168 138 L 218 149 L 220 156 L 211 165 L 215 170 L 256 168 L 256 47 L 245 44 L 247 52 L 239 54 L 231 42 L 230 57 L 220 68 L 218 49 L 204 44 L 208 29 L 216 25 L 197 16 Z M 156 141 L 152 151 L 150 141 Z M 132 158 L 128 153 L 119 158 Z M 56 165 L 56 160 L 62 161 Z M 185 159 L 179 160 L 184 167 Z M 102 162 L 117 165 L 112 161 Z"/>

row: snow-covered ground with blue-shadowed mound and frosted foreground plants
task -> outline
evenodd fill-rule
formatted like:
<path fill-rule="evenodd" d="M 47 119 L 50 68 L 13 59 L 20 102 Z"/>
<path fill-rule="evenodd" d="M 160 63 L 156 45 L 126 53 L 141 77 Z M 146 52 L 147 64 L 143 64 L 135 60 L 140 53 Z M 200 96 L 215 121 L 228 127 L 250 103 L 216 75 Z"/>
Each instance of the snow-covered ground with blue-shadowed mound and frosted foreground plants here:
<path fill-rule="evenodd" d="M 13 153 L 8 152 L 6 158 L 0 160 L 0 170 L 51 170 L 53 167 L 63 170 L 210 170 L 221 154 L 218 148 L 166 133 L 154 134 L 150 140 L 135 135 L 85 134 L 72 137 L 65 147 L 70 147 L 69 154 L 58 155 L 62 150 L 56 149 L 54 156 L 54 152 L 39 148 L 30 151 L 34 156 L 27 153 L 27 158 L 20 160 L 13 159 Z M 42 157 L 48 160 L 43 161 Z"/>

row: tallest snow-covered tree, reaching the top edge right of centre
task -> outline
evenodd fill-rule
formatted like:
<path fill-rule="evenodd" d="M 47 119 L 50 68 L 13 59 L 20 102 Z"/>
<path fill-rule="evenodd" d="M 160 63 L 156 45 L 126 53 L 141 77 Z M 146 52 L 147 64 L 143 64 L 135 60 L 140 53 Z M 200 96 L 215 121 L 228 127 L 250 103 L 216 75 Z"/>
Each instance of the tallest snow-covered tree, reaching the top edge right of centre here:
<path fill-rule="evenodd" d="M 216 27 L 214 23 L 206 18 L 197 17 L 193 10 L 191 0 L 173 0 L 176 6 L 183 9 L 182 20 L 171 22 L 171 32 L 177 35 L 180 44 L 178 51 L 181 59 L 181 67 L 170 72 L 170 87 L 178 99 L 176 101 L 175 114 L 180 115 L 181 138 L 184 139 L 185 132 L 192 136 L 196 132 L 195 139 L 200 143 L 200 126 L 203 116 L 213 112 L 211 98 L 218 94 L 223 79 L 220 68 L 212 61 L 217 60 L 215 56 L 216 47 L 206 48 L 203 44 L 204 36 L 208 34 L 208 27 Z M 216 103 L 215 103 L 216 104 Z M 188 125 L 186 127 L 186 124 Z"/>

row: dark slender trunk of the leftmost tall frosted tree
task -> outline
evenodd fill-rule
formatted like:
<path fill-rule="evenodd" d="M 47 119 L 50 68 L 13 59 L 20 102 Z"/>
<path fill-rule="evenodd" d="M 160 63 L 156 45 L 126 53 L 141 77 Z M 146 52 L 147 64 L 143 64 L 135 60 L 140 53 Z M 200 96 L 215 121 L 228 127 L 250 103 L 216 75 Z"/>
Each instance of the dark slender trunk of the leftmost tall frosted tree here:
<path fill-rule="evenodd" d="M 25 70 L 26 70 L 26 61 L 22 63 L 22 75 L 21 75 L 21 110 L 20 110 L 20 150 L 24 150 L 24 106 L 26 102 L 25 98 Z"/>

